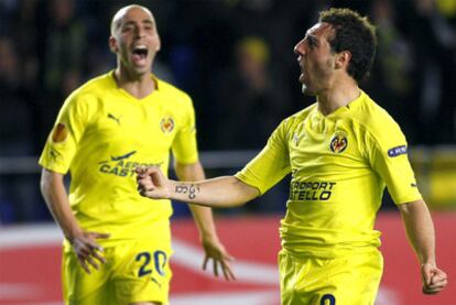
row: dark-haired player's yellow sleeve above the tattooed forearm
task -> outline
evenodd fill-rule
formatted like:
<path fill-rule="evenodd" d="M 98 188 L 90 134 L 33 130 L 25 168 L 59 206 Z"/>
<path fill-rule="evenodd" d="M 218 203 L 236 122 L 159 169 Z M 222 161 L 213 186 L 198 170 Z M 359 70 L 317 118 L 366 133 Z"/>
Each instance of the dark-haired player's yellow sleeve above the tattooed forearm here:
<path fill-rule="evenodd" d="M 271 134 L 263 150 L 236 174 L 243 183 L 264 194 L 290 173 L 290 156 L 285 123 Z"/>

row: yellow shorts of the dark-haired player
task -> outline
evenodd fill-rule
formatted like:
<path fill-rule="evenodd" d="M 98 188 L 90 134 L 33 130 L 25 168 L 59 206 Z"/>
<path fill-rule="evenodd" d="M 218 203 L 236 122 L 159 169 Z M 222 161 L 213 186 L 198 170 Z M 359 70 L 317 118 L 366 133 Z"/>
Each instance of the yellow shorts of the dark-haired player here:
<path fill-rule="evenodd" d="M 382 268 L 377 250 L 334 260 L 281 253 L 282 304 L 373 304 Z"/>

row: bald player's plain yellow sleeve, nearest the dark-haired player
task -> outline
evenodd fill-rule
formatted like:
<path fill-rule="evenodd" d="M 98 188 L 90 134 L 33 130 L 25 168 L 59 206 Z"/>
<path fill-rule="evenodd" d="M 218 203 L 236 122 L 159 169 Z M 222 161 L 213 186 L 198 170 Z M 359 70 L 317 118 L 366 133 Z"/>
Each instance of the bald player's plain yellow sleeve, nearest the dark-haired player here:
<path fill-rule="evenodd" d="M 196 142 L 195 110 L 189 97 L 181 120 L 182 126 L 171 149 L 177 162 L 192 164 L 198 161 L 198 148 Z"/>

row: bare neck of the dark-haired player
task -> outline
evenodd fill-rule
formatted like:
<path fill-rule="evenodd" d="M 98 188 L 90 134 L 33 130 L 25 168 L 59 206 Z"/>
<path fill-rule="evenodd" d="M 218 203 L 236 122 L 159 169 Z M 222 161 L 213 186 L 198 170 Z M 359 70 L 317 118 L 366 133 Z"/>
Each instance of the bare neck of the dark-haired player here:
<path fill-rule="evenodd" d="M 347 81 L 336 81 L 327 90 L 317 96 L 318 110 L 327 116 L 340 107 L 345 107 L 360 95 L 358 84 L 350 79 Z"/>

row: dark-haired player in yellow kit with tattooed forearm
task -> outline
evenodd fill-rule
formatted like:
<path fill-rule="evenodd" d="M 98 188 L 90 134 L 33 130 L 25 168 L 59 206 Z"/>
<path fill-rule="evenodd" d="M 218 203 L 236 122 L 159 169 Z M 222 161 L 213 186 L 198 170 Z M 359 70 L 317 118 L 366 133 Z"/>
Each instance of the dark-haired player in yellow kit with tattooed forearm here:
<path fill-rule="evenodd" d="M 317 101 L 285 119 L 241 172 L 202 182 L 140 167 L 139 192 L 210 207 L 239 206 L 292 175 L 279 254 L 282 304 L 373 304 L 382 274 L 373 229 L 388 187 L 420 261 L 423 292 L 447 276 L 435 261 L 433 222 L 416 187 L 405 138 L 358 84 L 377 47 L 374 26 L 348 9 L 321 12 L 294 52 L 303 94 Z"/>

